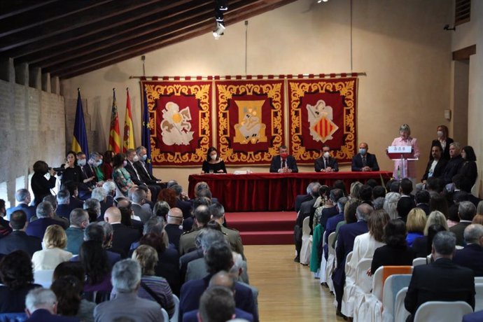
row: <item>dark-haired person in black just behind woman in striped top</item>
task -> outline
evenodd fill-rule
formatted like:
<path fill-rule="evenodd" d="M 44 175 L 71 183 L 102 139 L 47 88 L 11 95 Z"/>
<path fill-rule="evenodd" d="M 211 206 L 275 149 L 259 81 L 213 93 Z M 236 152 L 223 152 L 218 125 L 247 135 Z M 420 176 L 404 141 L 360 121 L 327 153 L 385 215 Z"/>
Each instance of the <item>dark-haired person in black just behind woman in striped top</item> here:
<path fill-rule="evenodd" d="M 162 233 L 148 232 L 139 240 L 140 245 L 148 245 L 158 252 L 158 265 L 155 275 L 167 279 L 174 294 L 179 295 L 181 277 L 179 274 L 179 254 L 174 248 L 168 248 Z"/>

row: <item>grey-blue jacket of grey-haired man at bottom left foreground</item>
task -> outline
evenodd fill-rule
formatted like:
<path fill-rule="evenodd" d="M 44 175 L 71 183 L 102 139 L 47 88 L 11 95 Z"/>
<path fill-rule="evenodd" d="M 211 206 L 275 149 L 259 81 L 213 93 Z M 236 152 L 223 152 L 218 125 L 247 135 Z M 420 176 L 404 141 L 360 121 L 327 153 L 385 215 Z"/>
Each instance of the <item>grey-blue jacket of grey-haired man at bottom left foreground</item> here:
<path fill-rule="evenodd" d="M 138 297 L 137 293 L 117 293 L 116 297 L 98 304 L 94 309 L 94 321 L 113 321 L 120 316 L 136 322 L 164 321 L 160 304 Z"/>

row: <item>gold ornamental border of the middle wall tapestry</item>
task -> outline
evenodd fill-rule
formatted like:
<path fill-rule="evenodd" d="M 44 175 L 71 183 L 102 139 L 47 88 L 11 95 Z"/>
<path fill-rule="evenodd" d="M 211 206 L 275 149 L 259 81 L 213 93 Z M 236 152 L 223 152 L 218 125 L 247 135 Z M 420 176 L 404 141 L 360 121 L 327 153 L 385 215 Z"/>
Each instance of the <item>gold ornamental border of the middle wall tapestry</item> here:
<path fill-rule="evenodd" d="M 273 82 L 273 83 L 267 83 Z M 232 83 L 232 80 L 230 80 Z M 240 85 L 223 85 L 223 81 L 216 82 L 217 106 L 218 106 L 218 138 L 219 151 L 221 158 L 227 162 L 244 162 L 254 165 L 258 162 L 270 162 L 274 155 L 277 155 L 278 148 L 283 142 L 283 80 L 262 80 L 258 84 L 256 80 L 246 81 Z M 271 147 L 268 151 L 247 151 L 237 152 L 230 148 L 230 116 L 228 113 L 228 103 L 233 95 L 265 95 L 270 99 L 271 120 Z"/>

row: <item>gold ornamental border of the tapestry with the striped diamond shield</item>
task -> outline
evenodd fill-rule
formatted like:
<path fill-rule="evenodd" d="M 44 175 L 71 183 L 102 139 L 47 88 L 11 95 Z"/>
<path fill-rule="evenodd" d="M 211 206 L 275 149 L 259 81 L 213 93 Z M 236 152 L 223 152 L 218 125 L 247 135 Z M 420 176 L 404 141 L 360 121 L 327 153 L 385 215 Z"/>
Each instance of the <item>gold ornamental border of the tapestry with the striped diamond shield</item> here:
<path fill-rule="evenodd" d="M 307 93 L 339 92 L 344 97 L 344 144 L 334 158 L 349 162 L 356 151 L 356 89 L 357 78 L 337 80 L 288 80 L 290 113 L 290 144 L 297 161 L 313 162 L 320 157 L 320 151 L 307 151 L 302 146 L 302 111 L 300 100 Z M 343 162 L 342 162 L 343 163 Z"/>

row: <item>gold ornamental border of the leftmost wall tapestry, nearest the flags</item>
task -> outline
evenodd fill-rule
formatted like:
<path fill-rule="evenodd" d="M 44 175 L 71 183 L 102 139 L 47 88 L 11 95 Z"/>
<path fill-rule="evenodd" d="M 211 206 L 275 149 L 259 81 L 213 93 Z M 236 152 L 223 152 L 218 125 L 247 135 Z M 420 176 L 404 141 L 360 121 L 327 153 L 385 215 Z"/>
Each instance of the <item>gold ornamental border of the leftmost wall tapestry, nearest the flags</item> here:
<path fill-rule="evenodd" d="M 190 85 L 189 82 L 183 84 L 172 85 L 153 85 L 149 82 L 144 83 L 148 99 L 148 110 L 151 113 L 149 118 L 149 127 L 151 128 L 151 158 L 153 166 L 172 166 L 179 165 L 199 165 L 206 159 L 207 151 L 210 144 L 211 135 L 211 82 L 200 81 L 193 82 L 197 84 Z M 156 147 L 156 134 L 158 127 L 156 126 L 155 100 L 162 95 L 174 96 L 194 96 L 198 101 L 200 111 L 198 111 L 198 134 L 200 136 L 199 146 L 195 152 L 162 152 Z M 189 163 L 189 164 L 187 164 Z"/>

